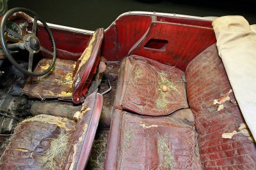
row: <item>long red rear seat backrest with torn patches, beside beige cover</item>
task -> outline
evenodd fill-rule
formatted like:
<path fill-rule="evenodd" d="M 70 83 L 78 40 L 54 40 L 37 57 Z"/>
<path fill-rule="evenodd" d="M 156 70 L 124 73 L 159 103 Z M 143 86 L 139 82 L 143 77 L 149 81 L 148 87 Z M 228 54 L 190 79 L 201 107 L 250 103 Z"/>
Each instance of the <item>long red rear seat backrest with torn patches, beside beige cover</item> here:
<path fill-rule="evenodd" d="M 255 143 L 243 134 L 235 134 L 232 139 L 221 138 L 223 133 L 238 131 L 245 122 L 233 92 L 222 110 L 219 104 L 214 104 L 214 99 L 232 89 L 216 44 L 189 63 L 186 79 L 189 106 L 199 134 L 200 159 L 205 169 L 256 169 Z"/>

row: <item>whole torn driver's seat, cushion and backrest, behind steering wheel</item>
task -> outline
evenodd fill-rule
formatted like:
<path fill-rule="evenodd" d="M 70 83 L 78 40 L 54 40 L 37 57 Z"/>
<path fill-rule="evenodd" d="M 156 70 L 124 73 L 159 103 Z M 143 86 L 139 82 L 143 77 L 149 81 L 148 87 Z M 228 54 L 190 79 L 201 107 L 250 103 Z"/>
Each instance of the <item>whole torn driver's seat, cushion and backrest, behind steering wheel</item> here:
<path fill-rule="evenodd" d="M 30 76 L 22 92 L 29 97 L 39 99 L 72 99 L 74 103 L 83 102 L 83 96 L 92 80 L 100 58 L 100 45 L 103 29 L 97 29 L 77 62 L 56 59 L 52 71 L 44 76 Z M 51 63 L 50 59 L 38 62 L 35 71 L 44 71 Z"/>

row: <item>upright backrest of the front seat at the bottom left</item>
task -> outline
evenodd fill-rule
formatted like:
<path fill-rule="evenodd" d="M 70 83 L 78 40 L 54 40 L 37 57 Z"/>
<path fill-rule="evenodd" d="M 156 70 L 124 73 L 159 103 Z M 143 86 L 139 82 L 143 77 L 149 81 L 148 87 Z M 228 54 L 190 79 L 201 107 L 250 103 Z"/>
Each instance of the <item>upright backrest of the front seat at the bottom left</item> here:
<path fill-rule="evenodd" d="M 99 124 L 102 103 L 102 95 L 97 92 L 86 97 L 64 169 L 85 169 Z"/>

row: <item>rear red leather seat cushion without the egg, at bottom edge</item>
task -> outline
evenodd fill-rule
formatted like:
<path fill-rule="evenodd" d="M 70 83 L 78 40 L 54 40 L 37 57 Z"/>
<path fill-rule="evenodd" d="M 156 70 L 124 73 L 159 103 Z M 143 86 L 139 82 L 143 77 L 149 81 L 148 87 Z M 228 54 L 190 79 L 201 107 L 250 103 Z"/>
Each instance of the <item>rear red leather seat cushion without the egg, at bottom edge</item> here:
<path fill-rule="evenodd" d="M 106 169 L 201 169 L 197 134 L 185 121 L 126 111 L 113 117 Z"/>

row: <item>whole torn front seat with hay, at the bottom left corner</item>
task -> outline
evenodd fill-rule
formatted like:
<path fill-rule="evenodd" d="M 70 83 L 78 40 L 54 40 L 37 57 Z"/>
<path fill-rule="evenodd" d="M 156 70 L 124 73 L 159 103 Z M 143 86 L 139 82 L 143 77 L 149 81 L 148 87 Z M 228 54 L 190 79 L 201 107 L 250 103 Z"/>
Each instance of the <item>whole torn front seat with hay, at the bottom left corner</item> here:
<path fill-rule="evenodd" d="M 20 122 L 0 159 L 0 169 L 84 169 L 97 130 L 102 96 L 86 98 L 77 123 L 38 115 Z"/>

